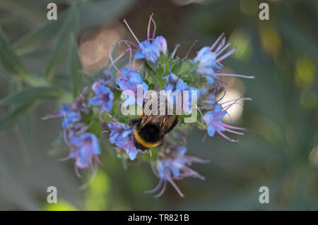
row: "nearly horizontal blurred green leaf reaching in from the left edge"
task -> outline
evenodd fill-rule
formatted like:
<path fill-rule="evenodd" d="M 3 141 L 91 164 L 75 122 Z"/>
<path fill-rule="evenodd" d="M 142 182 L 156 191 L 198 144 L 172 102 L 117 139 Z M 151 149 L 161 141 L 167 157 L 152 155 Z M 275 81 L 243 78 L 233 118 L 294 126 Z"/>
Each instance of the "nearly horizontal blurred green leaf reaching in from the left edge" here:
<path fill-rule="evenodd" d="M 37 99 L 61 99 L 66 96 L 65 92 L 57 87 L 28 87 L 4 97 L 0 100 L 0 105 L 30 103 Z"/>

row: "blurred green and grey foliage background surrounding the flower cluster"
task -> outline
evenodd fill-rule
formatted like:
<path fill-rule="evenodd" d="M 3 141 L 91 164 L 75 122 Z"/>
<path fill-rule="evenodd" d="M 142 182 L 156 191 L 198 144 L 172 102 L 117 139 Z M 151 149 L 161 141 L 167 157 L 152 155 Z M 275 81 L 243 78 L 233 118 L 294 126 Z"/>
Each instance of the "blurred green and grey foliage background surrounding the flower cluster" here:
<path fill-rule="evenodd" d="M 54 0 L 54 22 L 46 18 L 49 2 L 0 1 L 0 209 L 318 209 L 317 1 Z M 261 2 L 269 4 L 269 20 L 259 20 Z M 83 71 L 93 75 L 107 63 L 112 44 L 132 40 L 122 18 L 143 39 L 152 12 L 170 50 L 181 44 L 179 56 L 199 40 L 194 56 L 221 32 L 238 47 L 225 69 L 255 79 L 228 79 L 228 96 L 253 101 L 230 114 L 248 130 L 238 144 L 218 135 L 202 141 L 205 131 L 188 131 L 189 154 L 210 163 L 192 166 L 206 181 L 177 183 L 184 198 L 172 187 L 159 199 L 144 194 L 158 183 L 149 165 L 123 163 L 107 144 L 98 174 L 78 190 L 86 180 L 76 178 L 73 162 L 57 161 L 68 154 L 54 145 L 60 121 L 41 120 L 59 109 L 61 96 L 3 99 L 40 86 L 45 76 L 70 90 L 70 38 Z M 47 203 L 48 186 L 57 187 L 57 204 Z M 269 187 L 269 204 L 259 203 L 261 186 Z"/>

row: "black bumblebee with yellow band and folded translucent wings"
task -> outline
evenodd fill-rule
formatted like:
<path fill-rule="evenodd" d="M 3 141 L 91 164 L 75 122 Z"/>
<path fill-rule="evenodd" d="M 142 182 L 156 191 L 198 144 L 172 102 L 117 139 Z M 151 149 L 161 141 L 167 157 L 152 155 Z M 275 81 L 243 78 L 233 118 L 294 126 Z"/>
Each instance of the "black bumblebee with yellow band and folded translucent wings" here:
<path fill-rule="evenodd" d="M 147 105 L 147 102 L 152 101 L 151 97 L 148 97 L 146 103 L 143 104 L 143 108 Z M 155 101 L 157 101 L 155 99 Z M 166 110 L 163 107 L 164 98 L 158 99 L 158 114 L 143 114 L 141 118 L 133 119 L 130 121 L 131 125 L 134 125 L 134 145 L 139 150 L 148 150 L 151 147 L 157 147 L 163 145 L 163 139 L 167 133 L 177 126 L 178 116 L 177 115 L 167 115 L 160 114 L 160 110 Z M 161 109 L 160 109 L 161 108 Z"/>

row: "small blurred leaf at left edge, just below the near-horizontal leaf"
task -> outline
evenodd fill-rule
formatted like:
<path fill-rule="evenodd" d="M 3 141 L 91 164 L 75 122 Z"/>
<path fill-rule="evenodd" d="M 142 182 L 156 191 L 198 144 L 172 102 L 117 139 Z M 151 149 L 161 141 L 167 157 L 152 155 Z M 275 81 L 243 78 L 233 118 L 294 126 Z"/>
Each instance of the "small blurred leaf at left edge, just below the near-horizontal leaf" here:
<path fill-rule="evenodd" d="M 13 123 L 16 123 L 23 115 L 27 114 L 30 111 L 33 111 L 38 105 L 40 101 L 36 101 L 33 103 L 21 104 L 16 107 L 12 111 L 9 111 L 6 115 L 0 118 L 0 130 L 11 126 Z"/>

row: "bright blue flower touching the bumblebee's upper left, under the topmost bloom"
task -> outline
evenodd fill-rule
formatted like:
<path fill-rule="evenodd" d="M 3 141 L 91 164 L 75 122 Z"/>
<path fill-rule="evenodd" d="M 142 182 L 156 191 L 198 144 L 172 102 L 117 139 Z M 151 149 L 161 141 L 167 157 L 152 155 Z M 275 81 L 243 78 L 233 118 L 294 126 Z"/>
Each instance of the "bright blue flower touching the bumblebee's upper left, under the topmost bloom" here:
<path fill-rule="evenodd" d="M 137 94 L 137 85 L 142 85 L 143 94 L 145 94 L 148 90 L 148 85 L 143 82 L 143 79 L 134 68 L 123 68 L 121 71 L 121 75 L 122 76 L 116 81 L 116 84 L 120 87 L 119 90 L 122 90 L 123 92 L 125 90 L 131 90 L 132 92 L 134 92 L 134 95 Z M 142 107 L 142 102 L 137 102 L 136 97 L 131 98 L 129 97 L 129 95 L 126 95 L 124 106 L 127 107 L 131 104 L 139 104 L 139 106 Z"/>

